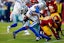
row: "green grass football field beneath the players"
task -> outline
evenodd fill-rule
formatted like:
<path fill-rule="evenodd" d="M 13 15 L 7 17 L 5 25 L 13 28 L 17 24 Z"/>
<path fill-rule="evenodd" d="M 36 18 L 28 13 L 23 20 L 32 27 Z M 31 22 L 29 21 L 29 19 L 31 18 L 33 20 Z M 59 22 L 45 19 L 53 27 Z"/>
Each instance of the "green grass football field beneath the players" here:
<path fill-rule="evenodd" d="M 61 40 L 56 40 L 54 36 L 52 36 L 52 39 L 48 42 L 45 41 L 45 39 L 41 39 L 39 41 L 35 40 L 35 35 L 29 30 L 31 33 L 30 35 L 26 36 L 23 35 L 24 31 L 17 34 L 16 39 L 13 39 L 13 31 L 19 29 L 22 24 L 18 23 L 18 26 L 15 28 L 12 28 L 10 30 L 10 33 L 7 34 L 6 29 L 8 25 L 11 25 L 12 23 L 1 23 L 0 22 L 0 43 L 64 43 L 64 36 L 61 36 Z M 62 25 L 62 29 L 64 29 L 64 25 Z M 64 31 L 63 31 L 64 33 Z"/>

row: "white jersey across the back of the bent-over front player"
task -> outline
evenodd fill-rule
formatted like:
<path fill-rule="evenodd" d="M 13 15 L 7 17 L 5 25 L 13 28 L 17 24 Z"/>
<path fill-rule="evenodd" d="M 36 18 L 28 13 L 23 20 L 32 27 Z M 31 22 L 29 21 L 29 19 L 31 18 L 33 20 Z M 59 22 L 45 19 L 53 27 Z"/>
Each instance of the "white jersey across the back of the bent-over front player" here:
<path fill-rule="evenodd" d="M 26 13 L 26 15 L 27 15 L 28 17 L 31 17 L 32 12 L 36 10 L 36 7 L 37 7 L 37 6 L 39 7 L 40 10 L 42 10 L 42 8 L 43 8 L 43 9 L 45 8 L 45 7 L 44 7 L 44 3 L 35 4 L 35 5 L 33 5 L 32 7 L 29 8 L 29 10 L 28 10 L 28 12 Z"/>

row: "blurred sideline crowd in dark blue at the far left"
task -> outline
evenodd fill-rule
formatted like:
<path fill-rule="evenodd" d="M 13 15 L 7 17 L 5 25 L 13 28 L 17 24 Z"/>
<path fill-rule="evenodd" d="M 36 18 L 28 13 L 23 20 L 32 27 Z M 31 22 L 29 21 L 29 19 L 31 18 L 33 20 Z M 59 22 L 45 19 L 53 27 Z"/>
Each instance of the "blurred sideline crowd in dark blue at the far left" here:
<path fill-rule="evenodd" d="M 10 22 L 10 14 L 11 10 L 13 9 L 13 3 L 12 0 L 0 0 L 0 21 L 1 22 Z"/>

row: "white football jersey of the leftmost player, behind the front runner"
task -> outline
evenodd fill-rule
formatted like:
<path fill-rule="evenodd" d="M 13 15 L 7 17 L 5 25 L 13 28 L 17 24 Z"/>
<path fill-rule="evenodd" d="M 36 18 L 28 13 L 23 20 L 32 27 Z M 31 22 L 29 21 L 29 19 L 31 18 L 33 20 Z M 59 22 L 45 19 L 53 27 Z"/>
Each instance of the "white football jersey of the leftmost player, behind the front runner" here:
<path fill-rule="evenodd" d="M 25 9 L 28 9 L 28 7 L 25 5 L 22 1 L 16 1 L 12 14 L 21 14 L 25 12 Z"/>

